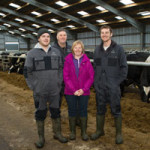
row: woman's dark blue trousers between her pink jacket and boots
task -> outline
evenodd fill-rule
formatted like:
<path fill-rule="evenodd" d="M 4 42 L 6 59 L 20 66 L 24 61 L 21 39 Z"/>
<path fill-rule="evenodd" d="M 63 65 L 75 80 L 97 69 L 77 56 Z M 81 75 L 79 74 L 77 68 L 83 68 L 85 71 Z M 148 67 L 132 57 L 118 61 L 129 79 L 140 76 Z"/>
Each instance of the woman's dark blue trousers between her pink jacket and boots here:
<path fill-rule="evenodd" d="M 69 117 L 87 117 L 88 95 L 74 96 L 66 95 L 66 101 L 68 104 Z"/>

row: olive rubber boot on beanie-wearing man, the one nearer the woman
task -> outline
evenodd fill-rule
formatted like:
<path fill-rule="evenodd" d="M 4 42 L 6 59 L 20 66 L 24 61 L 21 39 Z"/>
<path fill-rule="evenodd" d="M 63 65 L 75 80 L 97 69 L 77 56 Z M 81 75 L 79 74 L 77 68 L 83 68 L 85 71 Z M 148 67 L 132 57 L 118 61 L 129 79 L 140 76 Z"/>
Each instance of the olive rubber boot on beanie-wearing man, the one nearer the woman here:
<path fill-rule="evenodd" d="M 67 143 L 68 139 L 61 134 L 61 121 L 60 118 L 52 119 L 52 127 L 54 132 L 54 139 L 57 139 L 61 143 Z"/>

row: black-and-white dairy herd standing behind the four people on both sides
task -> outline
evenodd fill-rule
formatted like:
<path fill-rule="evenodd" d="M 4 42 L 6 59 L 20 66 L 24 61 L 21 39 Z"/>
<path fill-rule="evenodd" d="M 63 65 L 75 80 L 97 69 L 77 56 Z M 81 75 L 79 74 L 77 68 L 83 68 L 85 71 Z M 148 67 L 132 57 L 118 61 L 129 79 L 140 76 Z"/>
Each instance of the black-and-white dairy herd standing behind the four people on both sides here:
<path fill-rule="evenodd" d="M 8 53 L 2 52 L 3 55 L 7 56 L 10 60 L 8 73 L 17 72 L 23 74 L 23 67 L 26 58 L 26 52 L 22 53 Z M 87 53 L 87 56 L 92 59 L 93 53 Z M 149 52 L 130 52 L 126 53 L 127 61 L 134 62 L 148 62 L 150 63 L 150 53 Z M 124 87 L 129 85 L 134 85 L 139 88 L 141 100 L 143 102 L 150 102 L 150 66 L 140 66 L 140 65 L 128 65 L 128 75 L 127 79 L 120 85 L 122 96 L 124 92 Z"/>

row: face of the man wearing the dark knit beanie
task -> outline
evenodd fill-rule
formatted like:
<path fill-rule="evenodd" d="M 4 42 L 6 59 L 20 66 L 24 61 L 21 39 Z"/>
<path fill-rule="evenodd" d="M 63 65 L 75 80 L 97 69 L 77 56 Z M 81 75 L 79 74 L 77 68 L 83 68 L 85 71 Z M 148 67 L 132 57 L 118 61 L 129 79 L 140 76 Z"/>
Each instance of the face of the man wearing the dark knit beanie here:
<path fill-rule="evenodd" d="M 44 33 L 39 37 L 38 41 L 41 46 L 48 47 L 48 45 L 50 44 L 50 35 L 48 33 Z"/>

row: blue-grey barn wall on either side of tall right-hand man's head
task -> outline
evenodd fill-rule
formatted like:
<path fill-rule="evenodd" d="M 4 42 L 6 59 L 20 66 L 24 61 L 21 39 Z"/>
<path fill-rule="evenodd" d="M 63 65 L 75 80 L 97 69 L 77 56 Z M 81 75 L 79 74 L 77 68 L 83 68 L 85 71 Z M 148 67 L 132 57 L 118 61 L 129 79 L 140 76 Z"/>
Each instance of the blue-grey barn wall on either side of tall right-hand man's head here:
<path fill-rule="evenodd" d="M 145 49 L 150 50 L 150 25 L 146 26 Z M 101 40 L 99 33 L 78 33 L 78 39 L 82 40 L 87 50 L 94 50 Z M 141 33 L 134 27 L 119 28 L 113 30 L 113 40 L 123 45 L 126 51 L 141 50 Z"/>

